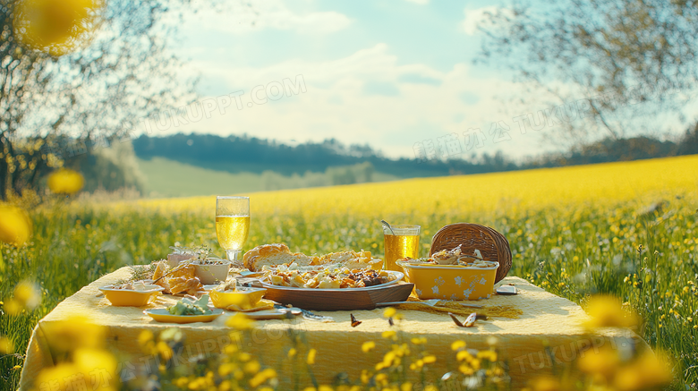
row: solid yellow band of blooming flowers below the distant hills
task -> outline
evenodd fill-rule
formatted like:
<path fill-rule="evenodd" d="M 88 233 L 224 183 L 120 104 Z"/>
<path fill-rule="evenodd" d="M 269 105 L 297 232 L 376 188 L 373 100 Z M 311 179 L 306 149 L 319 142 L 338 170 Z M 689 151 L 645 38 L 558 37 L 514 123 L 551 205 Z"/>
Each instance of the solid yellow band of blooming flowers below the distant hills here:
<path fill-rule="evenodd" d="M 252 214 L 307 218 L 327 215 L 365 217 L 430 215 L 435 210 L 518 216 L 542 208 L 605 206 L 619 201 L 647 202 L 662 196 L 695 197 L 698 157 L 671 157 L 594 166 L 419 178 L 389 183 L 251 194 Z M 215 197 L 140 200 L 146 208 L 212 212 Z M 121 208 L 128 203 L 121 203 Z"/>

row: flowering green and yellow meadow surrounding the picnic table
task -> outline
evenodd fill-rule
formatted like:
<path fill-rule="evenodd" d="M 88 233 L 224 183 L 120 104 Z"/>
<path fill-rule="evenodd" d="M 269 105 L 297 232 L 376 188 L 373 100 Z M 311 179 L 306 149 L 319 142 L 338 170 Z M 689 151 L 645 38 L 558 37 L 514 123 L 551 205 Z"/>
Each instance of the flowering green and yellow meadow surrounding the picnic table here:
<path fill-rule="evenodd" d="M 30 279 L 44 300 L 20 316 L 2 315 L 0 335 L 23 353 L 38 319 L 98 276 L 163 258 L 174 242 L 219 250 L 214 205 L 214 197 L 62 201 L 31 211 L 30 245 L 2 247 L 0 297 Z M 490 225 L 511 244 L 510 275 L 580 303 L 590 293 L 621 297 L 643 316 L 643 337 L 680 362 L 677 380 L 691 385 L 698 380 L 696 208 L 698 157 L 260 192 L 251 194 L 245 248 L 285 242 L 308 253 L 381 255 L 385 218 L 421 225 L 426 253 L 443 225 Z M 15 387 L 21 363 L 0 361 L 3 389 Z"/>

